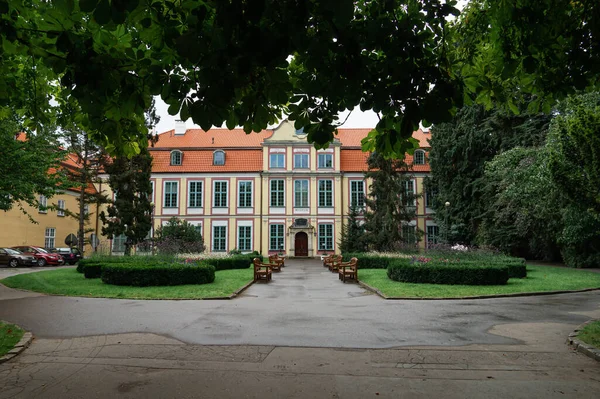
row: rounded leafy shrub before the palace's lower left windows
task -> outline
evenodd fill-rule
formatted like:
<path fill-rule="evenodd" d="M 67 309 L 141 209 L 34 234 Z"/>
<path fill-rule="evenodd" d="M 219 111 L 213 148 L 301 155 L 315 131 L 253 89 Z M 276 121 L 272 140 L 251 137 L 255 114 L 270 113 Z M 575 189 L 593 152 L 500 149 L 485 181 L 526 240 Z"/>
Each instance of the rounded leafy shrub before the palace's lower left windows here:
<path fill-rule="evenodd" d="M 202 234 L 196 226 L 175 217 L 156 230 L 155 239 L 161 253 L 199 253 L 205 249 Z"/>

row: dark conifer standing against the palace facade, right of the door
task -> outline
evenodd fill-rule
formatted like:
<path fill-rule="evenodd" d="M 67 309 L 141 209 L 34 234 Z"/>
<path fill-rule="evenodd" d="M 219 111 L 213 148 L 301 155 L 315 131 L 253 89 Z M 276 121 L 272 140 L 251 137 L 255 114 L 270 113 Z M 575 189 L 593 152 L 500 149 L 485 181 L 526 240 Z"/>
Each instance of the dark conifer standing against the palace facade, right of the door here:
<path fill-rule="evenodd" d="M 372 153 L 365 176 L 373 179 L 369 195 L 365 198 L 366 240 L 369 248 L 390 251 L 404 243 L 402 225 L 415 217 L 416 200 L 414 187 L 410 189 L 408 168 L 402 160 L 385 159 Z"/>

